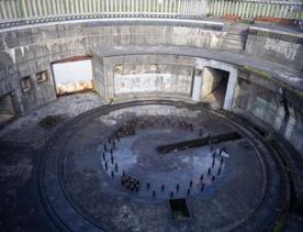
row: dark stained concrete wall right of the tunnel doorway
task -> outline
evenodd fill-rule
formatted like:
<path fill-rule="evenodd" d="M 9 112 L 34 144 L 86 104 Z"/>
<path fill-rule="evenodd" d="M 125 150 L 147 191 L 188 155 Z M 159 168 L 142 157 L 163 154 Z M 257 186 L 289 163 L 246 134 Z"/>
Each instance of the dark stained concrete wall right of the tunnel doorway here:
<path fill-rule="evenodd" d="M 279 132 L 303 156 L 303 98 L 292 91 L 283 91 L 282 95 L 278 84 L 239 73 L 232 110 L 256 124 L 265 124 Z"/>

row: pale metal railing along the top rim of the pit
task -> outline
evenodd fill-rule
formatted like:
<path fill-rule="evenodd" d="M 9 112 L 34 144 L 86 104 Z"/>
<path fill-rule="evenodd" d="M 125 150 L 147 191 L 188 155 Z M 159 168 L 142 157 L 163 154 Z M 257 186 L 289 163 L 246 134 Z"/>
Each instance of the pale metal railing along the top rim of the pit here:
<path fill-rule="evenodd" d="M 258 0 L 0 0 L 0 22 L 66 15 L 303 19 L 302 2 Z"/>

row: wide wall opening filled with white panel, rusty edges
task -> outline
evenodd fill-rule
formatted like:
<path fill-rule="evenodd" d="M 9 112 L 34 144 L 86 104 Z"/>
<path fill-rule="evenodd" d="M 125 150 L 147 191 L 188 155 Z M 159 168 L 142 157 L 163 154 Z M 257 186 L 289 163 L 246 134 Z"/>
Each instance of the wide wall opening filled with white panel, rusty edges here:
<path fill-rule="evenodd" d="M 90 58 L 70 58 L 52 64 L 57 96 L 93 89 Z"/>

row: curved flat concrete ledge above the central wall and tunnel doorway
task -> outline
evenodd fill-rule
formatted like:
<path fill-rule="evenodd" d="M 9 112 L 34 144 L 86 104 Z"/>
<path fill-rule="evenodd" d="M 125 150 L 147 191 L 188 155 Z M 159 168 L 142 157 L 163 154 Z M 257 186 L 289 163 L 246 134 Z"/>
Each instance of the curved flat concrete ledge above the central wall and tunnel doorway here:
<path fill-rule="evenodd" d="M 303 75 L 290 66 L 284 66 L 259 57 L 251 57 L 245 54 L 236 54 L 226 51 L 211 51 L 190 46 L 149 46 L 149 45 L 123 45 L 123 46 L 104 46 L 91 51 L 100 57 L 137 55 L 137 54 L 162 54 L 162 55 L 182 55 L 214 59 L 232 64 L 235 66 L 247 66 L 262 70 L 273 78 L 281 80 L 293 88 L 303 90 Z"/>

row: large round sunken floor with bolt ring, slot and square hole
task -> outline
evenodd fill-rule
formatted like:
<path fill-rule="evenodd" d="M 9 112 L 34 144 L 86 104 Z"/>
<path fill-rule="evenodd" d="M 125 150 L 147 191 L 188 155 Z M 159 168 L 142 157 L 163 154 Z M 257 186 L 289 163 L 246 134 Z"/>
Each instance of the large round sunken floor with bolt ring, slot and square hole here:
<path fill-rule="evenodd" d="M 43 201 L 72 231 L 265 229 L 283 201 L 283 179 L 262 143 L 192 104 L 99 108 L 63 128 L 46 152 Z"/>

